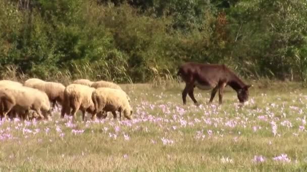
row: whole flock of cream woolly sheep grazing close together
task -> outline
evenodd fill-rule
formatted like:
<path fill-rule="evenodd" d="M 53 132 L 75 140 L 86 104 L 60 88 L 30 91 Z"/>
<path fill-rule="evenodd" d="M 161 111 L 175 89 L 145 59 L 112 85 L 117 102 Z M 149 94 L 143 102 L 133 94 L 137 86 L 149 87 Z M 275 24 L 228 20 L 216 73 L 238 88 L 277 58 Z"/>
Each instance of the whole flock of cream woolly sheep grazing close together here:
<path fill-rule="evenodd" d="M 50 105 L 52 103 L 52 106 Z M 77 79 L 71 84 L 49 82 L 38 78 L 30 78 L 24 83 L 12 80 L 0 80 L 0 117 L 21 118 L 29 120 L 30 111 L 35 112 L 37 119 L 50 119 L 52 109 L 61 105 L 61 118 L 65 114 L 76 119 L 76 112 L 92 115 L 92 119 L 106 118 L 111 112 L 114 118 L 116 112 L 131 120 L 132 108 L 129 96 L 121 87 L 109 81 L 90 81 Z"/>

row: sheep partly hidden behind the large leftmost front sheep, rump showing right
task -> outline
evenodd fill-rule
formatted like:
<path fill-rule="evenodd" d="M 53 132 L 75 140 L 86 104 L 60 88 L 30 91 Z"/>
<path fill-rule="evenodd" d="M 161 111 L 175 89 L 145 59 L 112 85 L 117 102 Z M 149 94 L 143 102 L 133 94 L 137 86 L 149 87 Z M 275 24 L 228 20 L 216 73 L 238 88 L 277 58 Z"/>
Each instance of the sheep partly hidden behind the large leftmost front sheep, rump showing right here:
<path fill-rule="evenodd" d="M 65 86 L 62 83 L 31 78 L 24 82 L 24 86 L 45 92 L 49 101 L 53 103 L 53 108 L 55 108 L 57 102 L 60 105 L 63 104 Z"/>

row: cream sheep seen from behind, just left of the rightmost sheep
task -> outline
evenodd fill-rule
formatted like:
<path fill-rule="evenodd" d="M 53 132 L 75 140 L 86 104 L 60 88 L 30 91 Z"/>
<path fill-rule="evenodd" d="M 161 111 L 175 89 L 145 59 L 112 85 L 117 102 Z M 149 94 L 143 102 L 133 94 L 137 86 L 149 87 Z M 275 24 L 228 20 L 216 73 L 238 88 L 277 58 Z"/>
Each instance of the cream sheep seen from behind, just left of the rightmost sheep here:
<path fill-rule="evenodd" d="M 94 104 L 91 99 L 94 90 L 94 88 L 86 85 L 76 83 L 69 84 L 64 90 L 64 104 L 61 111 L 61 118 L 64 118 L 65 114 L 72 114 L 73 120 L 75 120 L 78 110 L 82 111 L 83 121 L 85 112 L 92 114 L 92 118 L 94 118 L 96 115 L 93 113 Z"/>

